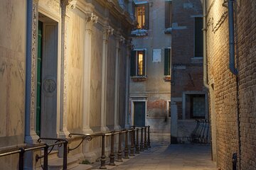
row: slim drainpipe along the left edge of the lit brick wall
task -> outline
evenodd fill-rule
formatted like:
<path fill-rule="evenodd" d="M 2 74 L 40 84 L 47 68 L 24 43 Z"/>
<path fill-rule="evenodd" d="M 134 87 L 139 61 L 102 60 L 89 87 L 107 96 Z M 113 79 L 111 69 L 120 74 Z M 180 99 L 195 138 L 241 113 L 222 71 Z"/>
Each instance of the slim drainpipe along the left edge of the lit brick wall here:
<path fill-rule="evenodd" d="M 206 0 L 203 0 L 203 86 L 209 89 L 207 79 L 207 54 L 206 54 Z"/>

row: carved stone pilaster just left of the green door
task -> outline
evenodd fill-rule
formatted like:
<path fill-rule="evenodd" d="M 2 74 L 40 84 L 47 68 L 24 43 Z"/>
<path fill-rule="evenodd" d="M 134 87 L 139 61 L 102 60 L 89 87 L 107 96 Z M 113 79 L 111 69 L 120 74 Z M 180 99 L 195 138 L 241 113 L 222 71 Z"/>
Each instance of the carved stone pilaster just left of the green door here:
<path fill-rule="evenodd" d="M 25 142 L 32 144 L 38 139 L 38 135 L 36 135 L 38 0 L 28 0 L 27 11 Z"/>

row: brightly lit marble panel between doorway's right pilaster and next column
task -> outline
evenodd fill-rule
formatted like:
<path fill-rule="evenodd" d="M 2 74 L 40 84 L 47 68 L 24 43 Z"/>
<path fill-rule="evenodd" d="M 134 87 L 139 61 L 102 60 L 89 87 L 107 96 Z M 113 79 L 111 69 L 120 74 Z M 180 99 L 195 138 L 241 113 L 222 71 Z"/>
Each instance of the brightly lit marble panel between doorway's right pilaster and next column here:
<path fill-rule="evenodd" d="M 85 20 L 74 9 L 68 25 L 68 129 L 82 128 L 82 63 Z"/>

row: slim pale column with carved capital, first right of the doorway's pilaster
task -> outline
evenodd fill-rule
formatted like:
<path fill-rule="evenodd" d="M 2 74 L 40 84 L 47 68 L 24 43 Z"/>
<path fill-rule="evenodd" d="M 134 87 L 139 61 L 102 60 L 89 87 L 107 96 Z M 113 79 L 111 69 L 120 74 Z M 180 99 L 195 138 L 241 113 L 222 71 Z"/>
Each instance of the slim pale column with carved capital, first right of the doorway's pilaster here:
<path fill-rule="evenodd" d="M 90 74 L 91 74 L 91 50 L 92 50 L 92 26 L 97 23 L 97 16 L 87 13 L 85 18 L 85 45 L 83 61 L 83 101 L 82 101 L 82 132 L 92 133 L 90 128 Z"/>

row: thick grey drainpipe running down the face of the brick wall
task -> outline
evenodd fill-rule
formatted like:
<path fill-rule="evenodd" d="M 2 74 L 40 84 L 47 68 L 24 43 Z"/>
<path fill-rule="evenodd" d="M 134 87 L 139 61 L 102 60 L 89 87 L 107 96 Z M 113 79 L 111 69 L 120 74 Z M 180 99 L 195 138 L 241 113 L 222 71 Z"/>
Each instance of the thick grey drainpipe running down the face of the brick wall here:
<path fill-rule="evenodd" d="M 234 0 L 228 0 L 228 32 L 229 32 L 229 69 L 235 76 L 238 70 L 235 69 L 235 33 L 234 33 Z"/>

